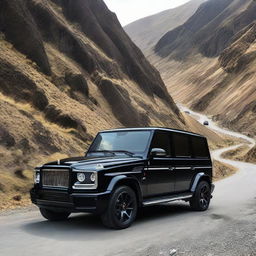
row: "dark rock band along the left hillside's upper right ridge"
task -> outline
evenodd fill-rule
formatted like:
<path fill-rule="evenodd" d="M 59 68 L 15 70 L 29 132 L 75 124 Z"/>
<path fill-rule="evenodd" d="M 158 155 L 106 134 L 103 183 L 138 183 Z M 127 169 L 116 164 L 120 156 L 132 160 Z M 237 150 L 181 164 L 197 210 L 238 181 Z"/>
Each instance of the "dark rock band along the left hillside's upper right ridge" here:
<path fill-rule="evenodd" d="M 158 71 L 149 65 L 141 51 L 124 33 L 116 15 L 107 9 L 103 1 L 62 0 L 57 3 L 63 8 L 66 18 L 77 22 L 82 31 L 107 56 L 115 59 L 122 71 L 136 81 L 145 93 L 171 101 Z"/>

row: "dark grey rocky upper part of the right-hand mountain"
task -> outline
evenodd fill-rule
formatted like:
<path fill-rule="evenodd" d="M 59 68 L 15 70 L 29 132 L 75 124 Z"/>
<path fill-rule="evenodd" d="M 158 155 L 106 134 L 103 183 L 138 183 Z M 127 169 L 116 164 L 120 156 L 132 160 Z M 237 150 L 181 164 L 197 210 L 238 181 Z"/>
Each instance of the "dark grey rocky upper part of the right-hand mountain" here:
<path fill-rule="evenodd" d="M 167 32 L 156 44 L 155 52 L 177 60 L 195 52 L 216 57 L 255 19 L 255 1 L 209 0 L 187 22 Z"/>

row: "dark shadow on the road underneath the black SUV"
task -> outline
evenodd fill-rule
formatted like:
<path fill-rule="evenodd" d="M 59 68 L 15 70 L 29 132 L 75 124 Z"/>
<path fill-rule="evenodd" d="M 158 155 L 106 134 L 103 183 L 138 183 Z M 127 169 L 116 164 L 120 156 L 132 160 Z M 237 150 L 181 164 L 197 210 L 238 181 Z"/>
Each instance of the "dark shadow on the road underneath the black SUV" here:
<path fill-rule="evenodd" d="M 141 209 L 135 223 L 126 230 L 105 228 L 100 217 L 92 214 L 74 214 L 62 222 L 50 222 L 42 218 L 40 221 L 26 223 L 21 228 L 32 235 L 56 240 L 108 240 L 120 236 L 120 233 L 131 234 L 135 230 L 142 232 L 151 224 L 163 223 L 164 225 L 166 219 L 169 222 L 184 214 L 191 214 L 190 208 L 186 204 L 177 203 Z"/>

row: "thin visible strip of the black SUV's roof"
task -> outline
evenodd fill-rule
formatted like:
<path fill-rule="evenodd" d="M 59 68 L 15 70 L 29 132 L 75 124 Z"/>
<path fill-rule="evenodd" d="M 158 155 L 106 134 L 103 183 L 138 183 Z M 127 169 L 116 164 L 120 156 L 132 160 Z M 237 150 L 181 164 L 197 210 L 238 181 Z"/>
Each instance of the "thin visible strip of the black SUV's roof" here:
<path fill-rule="evenodd" d="M 168 131 L 168 132 L 177 132 L 177 133 L 183 133 L 183 134 L 188 134 L 191 136 L 197 136 L 197 137 L 202 137 L 205 138 L 201 134 L 189 132 L 189 131 L 183 131 L 183 130 L 178 130 L 178 129 L 173 129 L 173 128 L 166 128 L 166 127 L 133 127 L 133 128 L 117 128 L 117 129 L 110 129 L 110 130 L 104 130 L 101 132 L 122 132 L 122 131 Z"/>

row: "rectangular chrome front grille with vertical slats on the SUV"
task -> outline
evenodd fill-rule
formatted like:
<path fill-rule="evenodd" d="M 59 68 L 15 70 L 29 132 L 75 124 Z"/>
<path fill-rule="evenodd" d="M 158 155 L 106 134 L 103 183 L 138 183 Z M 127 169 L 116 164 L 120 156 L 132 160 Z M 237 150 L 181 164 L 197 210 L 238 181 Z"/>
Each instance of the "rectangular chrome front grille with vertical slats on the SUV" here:
<path fill-rule="evenodd" d="M 69 187 L 68 169 L 42 169 L 42 186 L 55 188 Z"/>

